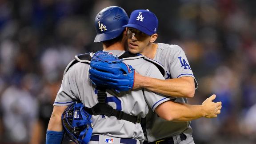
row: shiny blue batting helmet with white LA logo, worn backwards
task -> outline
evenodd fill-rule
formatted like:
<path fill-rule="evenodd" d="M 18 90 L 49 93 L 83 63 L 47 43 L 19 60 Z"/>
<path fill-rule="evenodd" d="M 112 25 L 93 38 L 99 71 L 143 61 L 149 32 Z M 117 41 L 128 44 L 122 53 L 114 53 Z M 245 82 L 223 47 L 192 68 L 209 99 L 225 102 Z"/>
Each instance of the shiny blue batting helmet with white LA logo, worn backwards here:
<path fill-rule="evenodd" d="M 95 17 L 94 24 L 97 35 L 94 42 L 112 40 L 124 31 L 129 17 L 123 8 L 111 6 L 101 10 Z"/>

